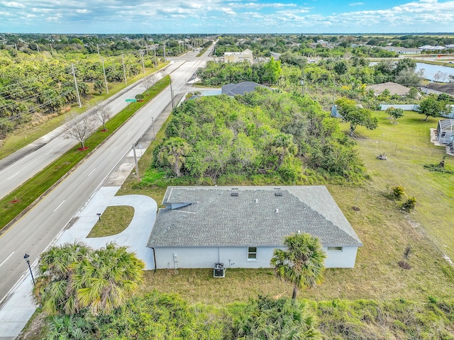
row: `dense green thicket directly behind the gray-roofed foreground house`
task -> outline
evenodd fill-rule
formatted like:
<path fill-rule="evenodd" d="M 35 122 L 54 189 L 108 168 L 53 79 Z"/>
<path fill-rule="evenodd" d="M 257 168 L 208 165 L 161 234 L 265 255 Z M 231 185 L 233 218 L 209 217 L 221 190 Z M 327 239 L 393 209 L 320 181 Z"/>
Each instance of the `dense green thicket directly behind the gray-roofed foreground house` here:
<path fill-rule="evenodd" d="M 355 142 L 316 102 L 258 89 L 230 98 L 187 101 L 167 125 L 153 166 L 194 179 L 239 176 L 301 184 L 363 178 Z M 145 178 L 143 181 L 147 181 Z"/>

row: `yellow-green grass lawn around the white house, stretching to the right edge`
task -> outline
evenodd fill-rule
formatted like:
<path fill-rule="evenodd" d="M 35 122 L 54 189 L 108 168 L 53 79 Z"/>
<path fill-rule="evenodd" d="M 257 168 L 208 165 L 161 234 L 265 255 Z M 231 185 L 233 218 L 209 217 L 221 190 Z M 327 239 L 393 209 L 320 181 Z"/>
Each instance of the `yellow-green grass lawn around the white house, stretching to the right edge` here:
<path fill-rule="evenodd" d="M 398 125 L 393 125 L 385 113 L 377 113 L 377 117 L 379 128 L 359 130 L 362 138 L 357 139 L 360 156 L 372 179 L 361 187 L 327 185 L 364 243 L 356 266 L 329 269 L 325 283 L 299 293 L 301 298 L 426 301 L 429 296 L 454 296 L 454 270 L 443 259 L 444 254 L 454 258 L 450 250 L 454 246 L 450 232 L 454 222 L 453 175 L 423 168 L 423 164 L 438 164 L 443 157 L 443 149 L 433 147 L 428 140 L 428 129 L 436 127 L 436 120 L 423 122 L 421 115 L 406 113 Z M 345 125 L 345 131 L 347 129 Z M 152 151 L 148 149 L 141 159 L 143 171 L 151 163 Z M 386 152 L 387 161 L 375 158 L 382 152 Z M 448 158 L 448 166 L 451 162 L 454 160 Z M 402 212 L 399 202 L 385 197 L 385 193 L 397 185 L 403 186 L 408 196 L 416 197 L 414 212 Z M 131 179 L 120 194 L 143 193 L 159 204 L 165 191 L 158 186 L 140 189 L 132 186 Z M 357 205 L 360 210 L 353 210 Z M 408 245 L 412 249 L 411 269 L 405 270 L 398 262 L 402 261 Z M 223 279 L 212 278 L 210 269 L 160 270 L 148 272 L 146 278 L 144 290 L 157 288 L 162 292 L 179 293 L 189 302 L 214 305 L 244 301 L 258 294 L 289 296 L 292 291 L 289 285 L 276 280 L 271 269 L 228 269 Z"/>

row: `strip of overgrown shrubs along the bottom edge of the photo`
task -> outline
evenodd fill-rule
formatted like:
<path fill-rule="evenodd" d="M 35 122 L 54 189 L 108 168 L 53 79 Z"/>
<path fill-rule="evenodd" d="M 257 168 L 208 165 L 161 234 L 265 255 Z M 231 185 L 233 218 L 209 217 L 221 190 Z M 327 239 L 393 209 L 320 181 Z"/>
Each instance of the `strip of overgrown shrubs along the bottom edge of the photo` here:
<path fill-rule="evenodd" d="M 454 301 L 258 297 L 190 306 L 154 290 L 100 317 L 49 317 L 42 339 L 454 339 Z M 45 335 L 44 335 L 45 334 Z"/>

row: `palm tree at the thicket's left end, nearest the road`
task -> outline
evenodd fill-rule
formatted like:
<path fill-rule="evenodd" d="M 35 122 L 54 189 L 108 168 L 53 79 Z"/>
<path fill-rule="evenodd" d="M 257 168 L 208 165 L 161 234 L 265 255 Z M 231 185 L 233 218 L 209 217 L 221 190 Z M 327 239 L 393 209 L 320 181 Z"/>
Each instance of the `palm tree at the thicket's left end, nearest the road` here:
<path fill-rule="evenodd" d="M 170 164 L 172 171 L 179 177 L 182 176 L 181 169 L 190 150 L 191 146 L 183 138 L 170 137 L 157 153 L 157 159 L 160 164 Z"/>

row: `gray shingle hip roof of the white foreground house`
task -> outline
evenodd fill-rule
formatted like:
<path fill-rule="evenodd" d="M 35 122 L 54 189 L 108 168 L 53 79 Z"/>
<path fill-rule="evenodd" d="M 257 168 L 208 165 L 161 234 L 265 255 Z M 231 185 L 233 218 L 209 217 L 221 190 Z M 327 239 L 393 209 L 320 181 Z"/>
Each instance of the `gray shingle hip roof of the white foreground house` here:
<path fill-rule="evenodd" d="M 192 204 L 160 208 L 148 246 L 280 246 L 298 231 L 324 246 L 362 246 L 325 186 L 169 187 L 162 204 L 172 203 Z"/>

